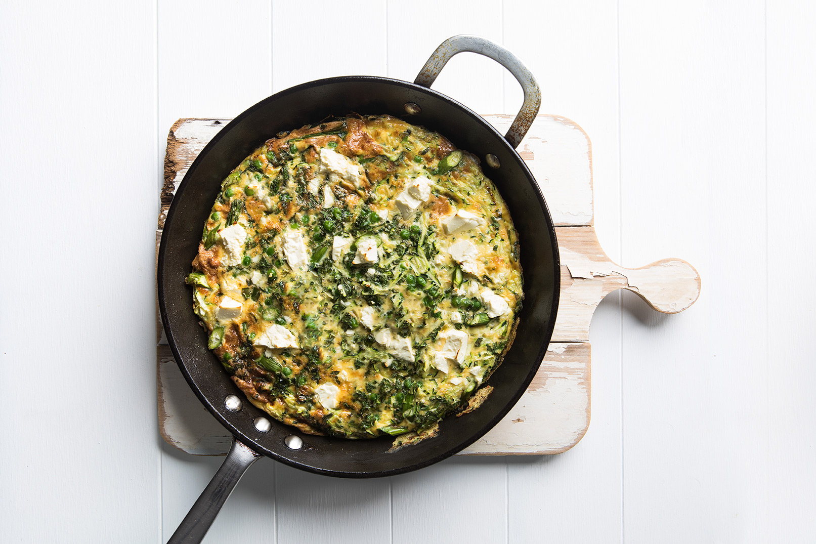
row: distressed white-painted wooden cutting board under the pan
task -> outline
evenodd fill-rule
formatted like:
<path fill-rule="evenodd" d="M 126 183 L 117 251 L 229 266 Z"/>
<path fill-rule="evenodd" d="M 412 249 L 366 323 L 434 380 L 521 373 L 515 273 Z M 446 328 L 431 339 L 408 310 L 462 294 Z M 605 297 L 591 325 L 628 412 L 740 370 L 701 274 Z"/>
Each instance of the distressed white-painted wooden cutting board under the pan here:
<path fill-rule="evenodd" d="M 485 115 L 499 132 L 512 116 Z M 156 247 L 175 190 L 193 159 L 229 119 L 184 118 L 167 136 Z M 507 417 L 463 454 L 561 453 L 589 426 L 589 324 L 610 292 L 636 292 L 654 310 L 675 314 L 697 300 L 697 270 L 681 259 L 626 269 L 606 256 L 595 235 L 592 210 L 592 145 L 570 119 L 539 115 L 518 147 L 539 183 L 556 225 L 561 252 L 561 302 L 552 342 L 539 372 Z M 191 302 L 192 305 L 192 302 Z M 159 430 L 168 444 L 193 455 L 224 455 L 232 437 L 198 399 L 173 359 L 157 312 Z"/>

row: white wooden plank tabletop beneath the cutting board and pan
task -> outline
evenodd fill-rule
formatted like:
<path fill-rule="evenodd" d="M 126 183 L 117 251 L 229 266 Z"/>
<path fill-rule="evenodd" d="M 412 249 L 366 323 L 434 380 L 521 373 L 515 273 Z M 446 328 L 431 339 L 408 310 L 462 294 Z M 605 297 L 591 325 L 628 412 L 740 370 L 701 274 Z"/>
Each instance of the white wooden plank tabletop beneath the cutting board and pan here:
<path fill-rule="evenodd" d="M 566 453 L 364 481 L 262 460 L 206 542 L 816 540 L 813 2 L 222 3 L 0 3 L 0 542 L 164 542 L 220 463 L 157 432 L 171 123 L 315 78 L 413 80 L 456 33 L 516 52 L 542 113 L 588 132 L 610 257 L 684 258 L 702 295 L 675 316 L 601 304 Z M 521 104 L 471 55 L 434 88 Z"/>

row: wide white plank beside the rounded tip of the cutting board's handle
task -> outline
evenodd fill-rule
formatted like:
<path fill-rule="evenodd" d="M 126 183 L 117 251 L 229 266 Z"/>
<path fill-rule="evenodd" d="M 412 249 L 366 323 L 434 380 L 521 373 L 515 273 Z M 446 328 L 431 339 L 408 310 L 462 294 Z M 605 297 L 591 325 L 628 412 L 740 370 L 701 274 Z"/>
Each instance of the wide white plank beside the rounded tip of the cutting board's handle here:
<path fill-rule="evenodd" d="M 671 252 L 706 278 L 676 319 L 624 296 L 632 544 L 784 541 L 765 498 L 764 42 L 760 0 L 620 2 L 621 258 Z"/>

